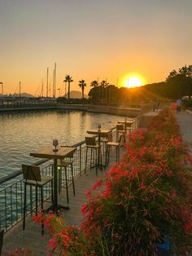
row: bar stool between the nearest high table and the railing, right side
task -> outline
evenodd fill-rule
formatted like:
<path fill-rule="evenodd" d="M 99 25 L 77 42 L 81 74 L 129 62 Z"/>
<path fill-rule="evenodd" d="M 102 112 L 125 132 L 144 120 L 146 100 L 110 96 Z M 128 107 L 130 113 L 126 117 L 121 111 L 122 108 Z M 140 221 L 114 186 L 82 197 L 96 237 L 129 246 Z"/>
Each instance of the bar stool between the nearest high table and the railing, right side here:
<path fill-rule="evenodd" d="M 68 166 L 71 169 L 71 178 L 69 177 Z M 75 182 L 74 182 L 74 175 L 73 175 L 73 153 L 68 155 L 68 157 L 64 159 L 58 160 L 58 171 L 59 171 L 59 193 L 62 187 L 62 180 L 64 180 L 65 188 L 66 188 L 66 195 L 67 201 L 69 203 L 69 196 L 68 196 L 68 182 L 72 180 L 72 191 L 73 195 L 76 195 L 75 191 Z M 64 171 L 64 178 L 63 178 L 63 171 Z"/>

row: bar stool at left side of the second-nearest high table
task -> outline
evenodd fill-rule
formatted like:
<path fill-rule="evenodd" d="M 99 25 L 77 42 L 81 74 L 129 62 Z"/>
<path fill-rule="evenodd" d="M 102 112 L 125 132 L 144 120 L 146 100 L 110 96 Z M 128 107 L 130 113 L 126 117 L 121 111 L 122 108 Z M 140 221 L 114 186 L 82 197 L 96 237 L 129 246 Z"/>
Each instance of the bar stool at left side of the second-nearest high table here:
<path fill-rule="evenodd" d="M 88 150 L 90 149 L 90 168 L 93 159 L 93 152 L 95 152 L 96 158 L 96 175 L 98 174 L 98 157 L 101 159 L 102 162 L 102 154 L 101 154 L 101 145 L 98 145 L 95 137 L 85 137 L 85 148 L 86 148 L 86 157 L 85 157 L 85 172 L 87 167 L 87 157 L 88 157 Z M 98 156 L 98 152 L 100 151 L 100 156 Z M 95 160 L 94 158 L 94 160 Z"/>

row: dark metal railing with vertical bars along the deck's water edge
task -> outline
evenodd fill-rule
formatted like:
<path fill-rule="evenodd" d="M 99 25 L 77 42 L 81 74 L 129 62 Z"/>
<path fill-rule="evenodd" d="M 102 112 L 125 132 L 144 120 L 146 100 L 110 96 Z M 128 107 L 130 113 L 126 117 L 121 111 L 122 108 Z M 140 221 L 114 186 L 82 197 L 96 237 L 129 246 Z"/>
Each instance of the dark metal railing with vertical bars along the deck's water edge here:
<path fill-rule="evenodd" d="M 139 117 L 134 118 L 133 130 L 138 126 Z M 112 128 L 113 137 L 116 128 Z M 74 176 L 81 175 L 85 170 L 85 140 L 80 143 L 72 145 L 72 147 L 77 148 L 73 156 L 73 174 Z M 88 156 L 90 159 L 90 156 Z M 52 175 L 53 161 L 42 159 L 41 161 L 36 161 L 33 163 L 35 166 L 41 166 L 41 173 L 46 175 Z M 88 165 L 89 167 L 89 161 Z M 70 172 L 68 171 L 69 185 Z M 6 186 L 6 184 L 9 185 Z M 11 184 L 10 184 L 11 183 Z M 22 176 L 22 170 L 16 171 L 14 174 L 7 175 L 0 179 L 0 185 L 4 185 L 0 191 L 0 229 L 3 228 L 7 232 L 11 227 L 18 223 L 23 218 L 23 203 L 24 203 L 24 179 Z M 64 182 L 61 183 L 64 186 Z M 44 199 L 50 197 L 50 185 L 44 189 Z M 40 197 L 39 197 L 40 198 Z M 27 205 L 30 205 L 28 214 L 33 213 L 35 208 L 35 192 L 32 187 L 28 186 L 27 191 Z"/>

